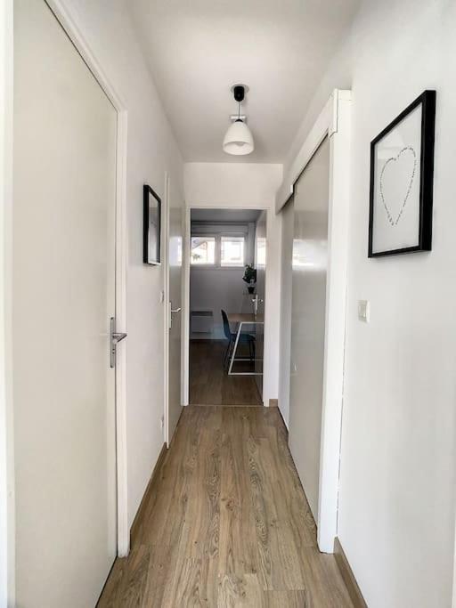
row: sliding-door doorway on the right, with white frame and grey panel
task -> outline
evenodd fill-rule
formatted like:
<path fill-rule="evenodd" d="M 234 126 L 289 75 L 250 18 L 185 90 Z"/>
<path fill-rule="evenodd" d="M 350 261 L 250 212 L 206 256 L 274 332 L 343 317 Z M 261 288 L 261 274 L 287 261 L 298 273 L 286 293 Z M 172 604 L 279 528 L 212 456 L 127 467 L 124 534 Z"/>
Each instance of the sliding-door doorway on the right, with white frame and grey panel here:
<path fill-rule="evenodd" d="M 335 90 L 298 151 L 276 206 L 282 213 L 280 399 L 286 401 L 290 451 L 325 553 L 333 552 L 338 532 L 350 116 L 350 91 Z"/>

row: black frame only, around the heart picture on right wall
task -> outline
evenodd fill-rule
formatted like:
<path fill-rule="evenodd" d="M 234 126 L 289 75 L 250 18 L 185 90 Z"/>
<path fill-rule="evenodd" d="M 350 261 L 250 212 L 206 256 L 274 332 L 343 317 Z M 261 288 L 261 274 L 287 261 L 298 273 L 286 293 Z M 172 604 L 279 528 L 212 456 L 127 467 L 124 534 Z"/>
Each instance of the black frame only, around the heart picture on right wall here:
<path fill-rule="evenodd" d="M 403 122 L 411 112 L 421 105 L 421 133 L 420 133 L 420 162 L 419 162 L 419 226 L 418 242 L 412 247 L 398 247 L 386 251 L 374 251 L 374 213 L 375 213 L 375 183 L 376 183 L 376 146 L 396 126 Z M 432 250 L 432 208 L 434 190 L 434 146 L 436 129 L 436 91 L 424 91 L 415 101 L 399 114 L 375 139 L 371 142 L 371 182 L 369 207 L 369 257 L 385 255 L 408 254 L 417 251 Z M 390 158 L 389 160 L 392 160 Z M 396 157 L 397 159 L 397 157 Z M 386 163 L 385 163 L 386 165 Z M 381 178 L 380 178 L 381 179 Z M 382 195 L 383 196 L 383 195 Z M 402 212 L 401 212 L 402 213 Z"/>

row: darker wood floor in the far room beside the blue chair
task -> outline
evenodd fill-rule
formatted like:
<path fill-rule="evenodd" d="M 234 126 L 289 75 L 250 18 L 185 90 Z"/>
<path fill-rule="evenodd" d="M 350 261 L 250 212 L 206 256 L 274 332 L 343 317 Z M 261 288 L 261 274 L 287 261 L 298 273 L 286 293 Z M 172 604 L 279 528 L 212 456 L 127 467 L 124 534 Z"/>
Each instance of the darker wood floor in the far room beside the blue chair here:
<path fill-rule="evenodd" d="M 225 348 L 226 343 L 219 340 L 191 340 L 191 404 L 261 405 L 254 376 L 228 376 L 224 370 Z M 236 365 L 236 371 L 244 371 L 242 361 Z"/>

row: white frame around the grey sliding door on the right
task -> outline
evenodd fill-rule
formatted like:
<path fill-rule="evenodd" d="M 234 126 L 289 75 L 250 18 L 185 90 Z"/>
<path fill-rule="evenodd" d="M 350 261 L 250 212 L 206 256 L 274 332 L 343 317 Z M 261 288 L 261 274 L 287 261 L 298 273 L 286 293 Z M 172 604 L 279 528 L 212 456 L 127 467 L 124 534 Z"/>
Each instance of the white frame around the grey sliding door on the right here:
<path fill-rule="evenodd" d="M 334 552 L 338 535 L 339 462 L 344 401 L 348 219 L 350 199 L 351 91 L 335 89 L 291 164 L 277 193 L 279 213 L 322 141 L 330 140 L 328 274 L 323 363 L 318 546 Z M 283 353 L 282 353 L 283 356 Z"/>

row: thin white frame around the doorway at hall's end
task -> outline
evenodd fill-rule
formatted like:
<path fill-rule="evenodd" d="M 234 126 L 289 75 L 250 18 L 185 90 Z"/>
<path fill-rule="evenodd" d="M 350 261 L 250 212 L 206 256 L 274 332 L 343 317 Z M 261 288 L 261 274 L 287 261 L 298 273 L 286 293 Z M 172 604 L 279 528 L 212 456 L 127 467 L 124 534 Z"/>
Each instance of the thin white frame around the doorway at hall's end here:
<path fill-rule="evenodd" d="M 270 207 L 260 206 L 233 206 L 233 205 L 214 205 L 214 204 L 193 204 L 185 206 L 185 222 L 183 233 L 183 396 L 182 402 L 184 406 L 190 404 L 190 238 L 191 238 L 191 210 L 192 209 L 229 209 L 242 211 L 265 211 L 266 212 L 266 270 L 265 270 L 265 334 L 263 344 L 263 405 L 269 407 L 271 399 L 269 392 L 269 373 L 273 367 L 272 364 L 272 338 L 270 320 L 271 306 L 268 307 L 267 281 L 268 281 L 268 257 L 270 256 L 270 231 L 271 231 L 271 214 L 275 213 Z"/>

